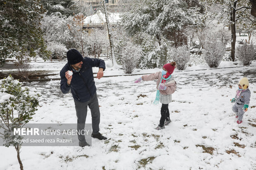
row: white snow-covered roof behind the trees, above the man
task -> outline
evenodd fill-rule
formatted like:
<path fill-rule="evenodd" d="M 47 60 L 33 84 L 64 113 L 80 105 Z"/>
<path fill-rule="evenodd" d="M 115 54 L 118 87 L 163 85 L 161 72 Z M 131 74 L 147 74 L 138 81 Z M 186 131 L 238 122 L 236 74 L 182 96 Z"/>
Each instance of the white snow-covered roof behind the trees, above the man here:
<path fill-rule="evenodd" d="M 121 21 L 120 13 L 109 13 L 109 23 L 112 25 L 116 25 L 119 21 Z M 87 16 L 84 20 L 84 26 L 104 26 L 106 22 L 105 14 L 102 12 L 97 12 L 91 16 Z"/>

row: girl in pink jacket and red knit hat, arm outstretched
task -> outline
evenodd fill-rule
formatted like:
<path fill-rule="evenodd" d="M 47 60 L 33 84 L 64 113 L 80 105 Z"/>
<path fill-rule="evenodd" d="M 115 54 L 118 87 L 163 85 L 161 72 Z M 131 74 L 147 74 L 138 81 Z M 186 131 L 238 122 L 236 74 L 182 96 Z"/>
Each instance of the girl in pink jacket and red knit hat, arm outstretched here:
<path fill-rule="evenodd" d="M 159 125 L 155 128 L 156 130 L 164 129 L 166 125 L 171 123 L 170 113 L 168 104 L 172 101 L 171 94 L 176 90 L 176 82 L 171 75 L 173 70 L 176 68 L 176 63 L 168 63 L 163 67 L 162 72 L 152 73 L 150 75 L 144 75 L 138 78 L 135 83 L 140 83 L 142 80 L 150 81 L 157 79 L 156 82 L 156 99 L 154 104 L 162 103 L 161 107 L 161 118 Z"/>

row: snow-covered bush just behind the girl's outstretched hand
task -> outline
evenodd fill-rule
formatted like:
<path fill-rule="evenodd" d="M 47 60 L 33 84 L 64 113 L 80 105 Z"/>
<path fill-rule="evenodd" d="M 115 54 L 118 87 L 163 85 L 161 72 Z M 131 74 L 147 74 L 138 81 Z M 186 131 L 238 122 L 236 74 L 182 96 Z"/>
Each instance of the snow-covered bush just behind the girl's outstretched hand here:
<path fill-rule="evenodd" d="M 127 42 L 126 46 L 121 51 L 121 64 L 124 72 L 130 74 L 137 67 L 140 56 L 142 55 L 142 49 L 140 46 Z"/>

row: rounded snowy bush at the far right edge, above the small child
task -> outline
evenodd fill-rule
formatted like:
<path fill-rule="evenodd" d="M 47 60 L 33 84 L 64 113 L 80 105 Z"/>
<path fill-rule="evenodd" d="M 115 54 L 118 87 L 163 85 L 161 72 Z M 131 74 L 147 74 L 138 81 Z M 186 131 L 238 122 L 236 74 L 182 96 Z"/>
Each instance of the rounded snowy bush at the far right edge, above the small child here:
<path fill-rule="evenodd" d="M 237 47 L 238 60 L 242 62 L 243 65 L 250 65 L 256 57 L 256 46 L 254 44 L 244 43 Z"/>

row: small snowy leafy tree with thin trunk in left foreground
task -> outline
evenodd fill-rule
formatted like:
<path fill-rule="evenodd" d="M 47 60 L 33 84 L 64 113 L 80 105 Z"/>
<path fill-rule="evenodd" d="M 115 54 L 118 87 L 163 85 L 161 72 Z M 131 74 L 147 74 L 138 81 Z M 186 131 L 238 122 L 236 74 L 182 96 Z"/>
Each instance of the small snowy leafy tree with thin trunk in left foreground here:
<path fill-rule="evenodd" d="M 20 168 L 23 165 L 19 156 L 21 144 L 15 142 L 14 138 L 21 140 L 23 137 L 14 135 L 14 128 L 21 128 L 28 123 L 39 106 L 38 97 L 40 93 L 31 92 L 22 86 L 18 80 L 14 80 L 11 75 L 0 80 L 0 128 L 4 129 L 1 137 L 4 146 L 13 145 L 17 151 L 17 158 Z"/>

